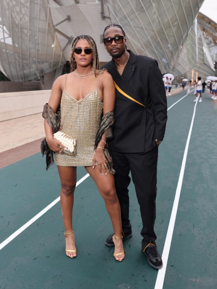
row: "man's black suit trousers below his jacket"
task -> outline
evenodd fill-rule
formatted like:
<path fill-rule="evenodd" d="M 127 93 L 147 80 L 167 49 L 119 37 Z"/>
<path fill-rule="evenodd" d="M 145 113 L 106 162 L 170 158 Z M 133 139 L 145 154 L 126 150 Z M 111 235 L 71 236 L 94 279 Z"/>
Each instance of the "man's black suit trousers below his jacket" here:
<path fill-rule="evenodd" d="M 157 195 L 157 162 L 158 147 L 146 153 L 120 153 L 111 151 L 115 188 L 121 206 L 122 228 L 131 227 L 129 219 L 129 194 L 128 186 L 131 178 L 136 189 L 136 197 L 140 206 L 142 219 L 141 235 L 142 248 L 150 241 L 156 240 L 154 223 L 156 216 Z"/>

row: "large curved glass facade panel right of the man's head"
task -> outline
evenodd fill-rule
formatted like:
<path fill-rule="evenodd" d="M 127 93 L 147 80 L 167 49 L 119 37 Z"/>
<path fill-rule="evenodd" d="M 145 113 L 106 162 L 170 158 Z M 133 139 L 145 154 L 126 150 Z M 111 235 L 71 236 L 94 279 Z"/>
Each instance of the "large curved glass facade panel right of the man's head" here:
<path fill-rule="evenodd" d="M 190 69 L 195 65 L 195 19 L 203 0 L 107 2 L 111 22 L 120 24 L 125 29 L 128 47 L 137 54 L 157 59 L 162 72 L 172 71 L 179 75 L 185 70 L 184 67 Z M 189 50 L 192 57 L 188 54 Z M 186 55 L 188 59 L 185 59 Z"/>

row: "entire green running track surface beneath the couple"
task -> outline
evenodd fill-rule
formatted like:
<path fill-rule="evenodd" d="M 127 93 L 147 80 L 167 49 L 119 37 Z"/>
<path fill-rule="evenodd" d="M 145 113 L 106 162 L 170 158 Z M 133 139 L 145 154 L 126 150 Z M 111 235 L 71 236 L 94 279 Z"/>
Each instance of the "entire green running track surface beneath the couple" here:
<path fill-rule="evenodd" d="M 184 92 L 168 98 L 168 107 Z M 168 111 L 160 146 L 155 230 L 164 241 L 193 114 L 189 95 Z M 217 288 L 216 192 L 217 107 L 208 94 L 197 104 L 186 170 L 163 289 Z M 86 171 L 78 168 L 79 180 Z M 59 196 L 54 165 L 35 154 L 0 170 L 0 243 Z M 117 262 L 104 245 L 112 232 L 103 199 L 88 177 L 76 188 L 74 231 L 78 257 L 64 255 L 64 229 L 59 202 L 0 251 L 0 289 L 154 289 L 158 271 L 140 251 L 141 220 L 130 185 L 133 237 L 126 258 Z M 217 267 L 217 266 L 216 266 Z"/>

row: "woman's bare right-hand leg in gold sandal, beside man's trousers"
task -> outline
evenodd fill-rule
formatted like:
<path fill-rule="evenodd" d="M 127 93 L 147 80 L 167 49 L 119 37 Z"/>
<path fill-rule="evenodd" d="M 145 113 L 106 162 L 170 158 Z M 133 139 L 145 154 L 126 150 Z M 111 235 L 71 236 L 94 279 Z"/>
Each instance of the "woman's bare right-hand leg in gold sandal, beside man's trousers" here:
<path fill-rule="evenodd" d="M 121 212 L 120 204 L 115 191 L 114 177 L 110 173 L 107 173 L 107 175 L 104 173 L 100 174 L 97 166 L 95 169 L 92 167 L 85 167 L 85 169 L 96 183 L 97 188 L 105 201 L 105 205 L 113 226 L 114 235 L 117 237 L 113 238 L 115 245 L 114 255 L 123 253 L 116 256 L 115 259 L 123 260 L 124 247 L 122 242 Z"/>

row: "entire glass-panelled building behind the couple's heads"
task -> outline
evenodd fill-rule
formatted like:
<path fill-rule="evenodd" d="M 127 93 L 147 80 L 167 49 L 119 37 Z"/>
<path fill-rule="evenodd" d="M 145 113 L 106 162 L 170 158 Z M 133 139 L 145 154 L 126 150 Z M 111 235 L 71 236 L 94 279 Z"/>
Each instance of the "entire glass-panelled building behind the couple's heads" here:
<path fill-rule="evenodd" d="M 162 73 L 214 75 L 217 24 L 199 13 L 203 0 L 0 0 L 0 70 L 24 82 L 62 73 L 77 35 L 91 35 L 100 62 L 110 57 L 103 30 L 116 23 L 127 47 L 157 59 Z"/>

